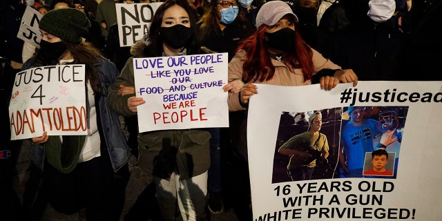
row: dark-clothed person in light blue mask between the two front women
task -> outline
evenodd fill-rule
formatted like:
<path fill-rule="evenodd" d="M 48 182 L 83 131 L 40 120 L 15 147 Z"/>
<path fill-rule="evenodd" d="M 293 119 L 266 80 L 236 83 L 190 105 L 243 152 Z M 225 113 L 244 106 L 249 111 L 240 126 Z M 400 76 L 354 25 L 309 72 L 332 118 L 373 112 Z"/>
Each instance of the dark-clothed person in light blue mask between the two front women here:
<path fill-rule="evenodd" d="M 240 11 L 237 0 L 211 1 L 197 23 L 197 39 L 202 52 L 227 52 L 230 61 L 240 41 L 256 30 L 247 22 L 244 12 Z M 242 86 L 242 81 L 238 81 L 238 84 Z M 223 211 L 221 173 L 227 161 L 222 159 L 222 155 L 225 155 L 229 143 L 229 131 L 228 128 L 209 128 L 209 131 L 212 138 L 208 206 L 212 215 L 215 215 Z"/>

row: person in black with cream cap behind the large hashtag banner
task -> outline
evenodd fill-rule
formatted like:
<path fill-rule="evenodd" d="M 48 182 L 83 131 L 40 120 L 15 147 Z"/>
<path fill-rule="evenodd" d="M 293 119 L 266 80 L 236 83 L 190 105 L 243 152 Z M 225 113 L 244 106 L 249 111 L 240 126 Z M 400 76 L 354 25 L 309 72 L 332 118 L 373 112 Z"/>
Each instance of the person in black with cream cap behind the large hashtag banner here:
<path fill-rule="evenodd" d="M 316 49 L 341 67 L 352 68 L 359 80 L 393 81 L 401 77 L 407 35 L 398 27 L 395 1 L 340 2 L 349 23 L 330 34 L 321 34 Z"/>

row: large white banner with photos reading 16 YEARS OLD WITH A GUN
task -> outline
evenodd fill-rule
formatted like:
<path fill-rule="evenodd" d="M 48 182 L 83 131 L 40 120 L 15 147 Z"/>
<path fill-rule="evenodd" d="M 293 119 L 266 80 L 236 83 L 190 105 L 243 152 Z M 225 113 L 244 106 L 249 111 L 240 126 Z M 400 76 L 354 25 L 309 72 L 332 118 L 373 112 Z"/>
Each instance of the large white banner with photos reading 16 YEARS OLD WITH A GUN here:
<path fill-rule="evenodd" d="M 257 86 L 247 125 L 253 220 L 440 219 L 442 81 Z M 320 157 L 293 168 L 297 152 L 281 146 L 294 140 Z"/>

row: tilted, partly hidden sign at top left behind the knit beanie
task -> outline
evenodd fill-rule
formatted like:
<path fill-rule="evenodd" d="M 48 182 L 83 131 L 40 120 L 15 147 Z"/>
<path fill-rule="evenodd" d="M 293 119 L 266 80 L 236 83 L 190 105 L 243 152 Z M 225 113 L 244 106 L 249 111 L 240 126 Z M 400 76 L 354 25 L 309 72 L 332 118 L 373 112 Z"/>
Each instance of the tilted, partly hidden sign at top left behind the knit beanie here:
<path fill-rule="evenodd" d="M 21 17 L 21 24 L 17 37 L 39 48 L 41 33 L 39 29 L 40 19 L 43 17 L 37 10 L 27 6 Z"/>

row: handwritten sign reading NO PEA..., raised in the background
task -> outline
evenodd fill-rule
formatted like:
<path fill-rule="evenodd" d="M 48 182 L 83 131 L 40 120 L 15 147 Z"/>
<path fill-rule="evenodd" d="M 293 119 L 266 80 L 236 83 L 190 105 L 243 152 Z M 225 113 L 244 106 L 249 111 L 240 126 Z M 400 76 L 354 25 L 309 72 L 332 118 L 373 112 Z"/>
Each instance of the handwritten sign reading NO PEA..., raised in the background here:
<path fill-rule="evenodd" d="M 153 14 L 162 2 L 125 4 L 117 3 L 119 46 L 132 46 L 148 32 Z"/>

